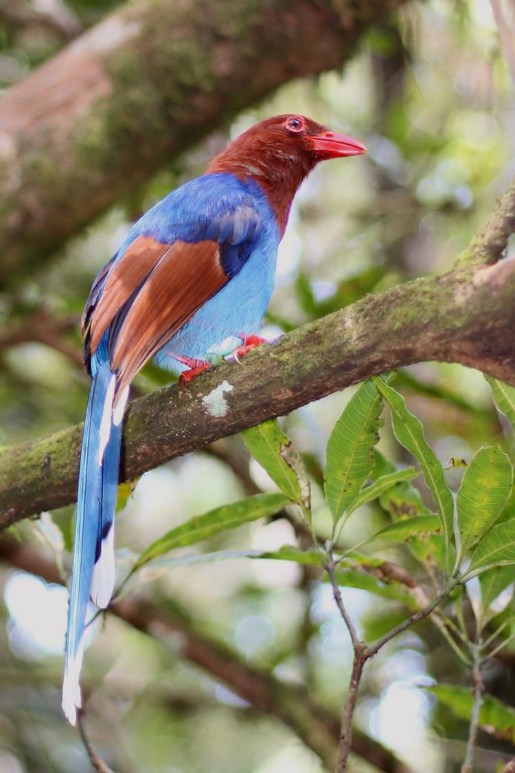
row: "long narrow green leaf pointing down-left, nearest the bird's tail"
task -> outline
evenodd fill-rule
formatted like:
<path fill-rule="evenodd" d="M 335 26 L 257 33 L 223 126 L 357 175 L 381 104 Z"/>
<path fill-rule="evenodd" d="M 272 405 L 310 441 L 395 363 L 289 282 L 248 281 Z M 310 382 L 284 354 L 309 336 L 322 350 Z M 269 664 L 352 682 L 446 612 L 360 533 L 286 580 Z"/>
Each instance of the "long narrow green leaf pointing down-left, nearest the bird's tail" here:
<path fill-rule="evenodd" d="M 222 505 L 202 516 L 195 516 L 181 526 L 176 526 L 159 540 L 149 545 L 137 559 L 132 571 L 153 558 L 168 553 L 176 547 L 185 547 L 219 532 L 235 529 L 242 523 L 249 523 L 258 518 L 273 516 L 275 512 L 288 504 L 286 496 L 280 493 L 256 494 L 230 505 Z"/>

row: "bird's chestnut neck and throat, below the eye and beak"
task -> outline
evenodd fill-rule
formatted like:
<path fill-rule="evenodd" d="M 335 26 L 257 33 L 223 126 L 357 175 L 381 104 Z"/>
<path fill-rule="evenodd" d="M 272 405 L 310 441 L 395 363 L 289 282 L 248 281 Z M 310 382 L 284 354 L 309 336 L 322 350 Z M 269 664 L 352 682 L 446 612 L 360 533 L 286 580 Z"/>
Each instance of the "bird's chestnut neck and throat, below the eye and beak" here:
<path fill-rule="evenodd" d="M 233 154 L 231 148 L 213 158 L 207 172 L 225 172 L 239 179 L 252 179 L 265 192 L 276 216 L 280 238 L 283 238 L 290 206 L 297 189 L 314 163 L 274 150 L 269 153 Z"/>

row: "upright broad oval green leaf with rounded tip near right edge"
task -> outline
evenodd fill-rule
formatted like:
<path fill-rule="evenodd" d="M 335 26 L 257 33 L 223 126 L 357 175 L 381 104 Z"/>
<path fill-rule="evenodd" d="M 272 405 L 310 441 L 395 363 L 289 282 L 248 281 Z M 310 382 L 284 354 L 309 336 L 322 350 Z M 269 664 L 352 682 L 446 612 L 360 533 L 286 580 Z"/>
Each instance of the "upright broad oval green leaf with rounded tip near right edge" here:
<path fill-rule="evenodd" d="M 499 446 L 479 448 L 456 496 L 460 556 L 494 525 L 510 497 L 512 485 L 513 468 Z"/>

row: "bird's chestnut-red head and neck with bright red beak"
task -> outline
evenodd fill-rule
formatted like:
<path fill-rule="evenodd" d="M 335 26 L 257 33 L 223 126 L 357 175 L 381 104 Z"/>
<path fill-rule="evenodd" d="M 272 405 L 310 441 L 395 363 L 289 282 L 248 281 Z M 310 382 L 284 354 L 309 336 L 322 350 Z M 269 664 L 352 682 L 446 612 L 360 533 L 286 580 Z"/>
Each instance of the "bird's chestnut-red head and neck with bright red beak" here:
<path fill-rule="evenodd" d="M 275 115 L 236 137 L 213 158 L 208 172 L 256 180 L 265 189 L 283 231 L 296 189 L 320 161 L 364 152 L 361 142 L 311 118 Z"/>

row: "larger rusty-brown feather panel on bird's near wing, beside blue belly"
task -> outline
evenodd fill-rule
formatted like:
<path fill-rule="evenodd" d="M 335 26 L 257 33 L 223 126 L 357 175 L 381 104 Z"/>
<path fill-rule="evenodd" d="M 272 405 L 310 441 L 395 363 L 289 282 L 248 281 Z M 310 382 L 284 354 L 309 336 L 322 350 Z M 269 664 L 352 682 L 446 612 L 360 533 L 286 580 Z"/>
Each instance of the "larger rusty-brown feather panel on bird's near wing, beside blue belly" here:
<path fill-rule="evenodd" d="M 227 280 L 218 243 L 174 243 L 144 282 L 120 326 L 111 352 L 118 393 Z"/>

